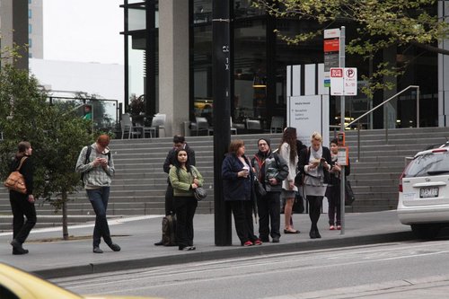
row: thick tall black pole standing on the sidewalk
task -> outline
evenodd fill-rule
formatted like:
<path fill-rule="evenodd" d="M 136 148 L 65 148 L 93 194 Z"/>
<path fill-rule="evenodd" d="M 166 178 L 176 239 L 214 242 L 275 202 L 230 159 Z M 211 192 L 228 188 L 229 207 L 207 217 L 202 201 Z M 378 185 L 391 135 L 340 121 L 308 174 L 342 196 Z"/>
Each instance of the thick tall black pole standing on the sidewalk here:
<path fill-rule="evenodd" d="M 231 142 L 231 6 L 229 0 L 213 0 L 213 96 L 214 96 L 214 207 L 217 246 L 233 243 L 231 210 L 223 200 L 221 168 Z"/>

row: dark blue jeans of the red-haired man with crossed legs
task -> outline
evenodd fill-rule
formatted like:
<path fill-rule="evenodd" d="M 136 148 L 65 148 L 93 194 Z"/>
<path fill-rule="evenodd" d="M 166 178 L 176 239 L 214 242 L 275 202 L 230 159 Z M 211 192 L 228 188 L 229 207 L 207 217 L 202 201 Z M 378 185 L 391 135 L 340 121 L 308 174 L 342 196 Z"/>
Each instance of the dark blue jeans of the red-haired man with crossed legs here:
<path fill-rule="evenodd" d="M 108 201 L 110 198 L 110 187 L 101 187 L 99 189 L 86 189 L 87 197 L 91 201 L 93 211 L 95 212 L 95 227 L 93 228 L 93 247 L 98 247 L 103 237 L 104 242 L 110 245 L 110 227 L 106 218 Z"/>

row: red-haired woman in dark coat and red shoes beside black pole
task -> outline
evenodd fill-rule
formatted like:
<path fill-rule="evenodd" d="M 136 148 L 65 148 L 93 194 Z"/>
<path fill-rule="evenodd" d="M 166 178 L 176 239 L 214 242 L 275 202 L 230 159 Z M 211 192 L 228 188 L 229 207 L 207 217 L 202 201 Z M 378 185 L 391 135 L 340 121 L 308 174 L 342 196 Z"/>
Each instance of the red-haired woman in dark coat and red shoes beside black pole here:
<path fill-rule="evenodd" d="M 223 192 L 233 211 L 235 230 L 242 246 L 260 245 L 252 224 L 253 173 L 242 140 L 233 140 L 222 165 Z"/>

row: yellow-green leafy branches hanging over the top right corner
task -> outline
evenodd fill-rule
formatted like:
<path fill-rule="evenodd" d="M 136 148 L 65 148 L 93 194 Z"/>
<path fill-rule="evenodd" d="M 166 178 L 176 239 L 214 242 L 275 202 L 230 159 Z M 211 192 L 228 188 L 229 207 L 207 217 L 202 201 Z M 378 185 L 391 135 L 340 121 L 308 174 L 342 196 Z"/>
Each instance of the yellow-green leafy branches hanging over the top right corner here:
<path fill-rule="evenodd" d="M 449 55 L 449 51 L 436 48 L 436 42 L 448 37 L 449 25 L 434 13 L 436 0 L 257 0 L 254 6 L 266 10 L 277 18 L 296 18 L 301 21 L 315 21 L 321 30 L 297 32 L 294 36 L 277 31 L 277 36 L 288 44 L 301 44 L 322 36 L 326 28 L 335 28 L 334 22 L 346 22 L 357 29 L 356 40 L 350 40 L 346 49 L 349 54 L 364 59 L 373 58 L 386 48 L 413 45 L 430 51 Z M 377 66 L 370 77 L 365 76 L 368 85 L 364 92 L 390 88 L 382 84 L 383 75 L 403 74 L 413 57 L 406 57 L 401 68 L 398 66 Z"/>

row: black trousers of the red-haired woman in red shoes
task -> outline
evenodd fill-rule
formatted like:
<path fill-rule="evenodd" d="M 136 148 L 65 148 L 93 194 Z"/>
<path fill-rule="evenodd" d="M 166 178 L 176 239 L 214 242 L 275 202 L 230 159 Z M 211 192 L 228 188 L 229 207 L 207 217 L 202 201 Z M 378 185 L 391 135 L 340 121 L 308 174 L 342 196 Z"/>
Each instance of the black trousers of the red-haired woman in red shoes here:
<path fill-rule="evenodd" d="M 252 201 L 230 200 L 229 204 L 233 211 L 235 231 L 242 245 L 248 241 L 256 241 L 257 237 L 254 235 L 254 224 L 252 223 Z"/>

